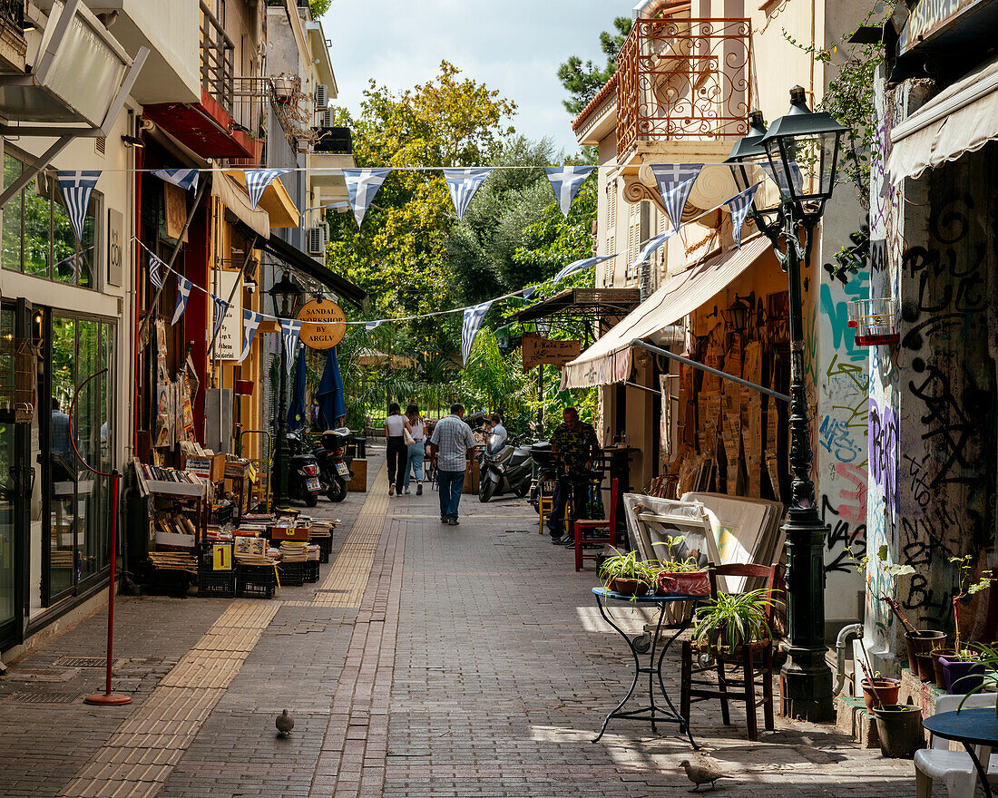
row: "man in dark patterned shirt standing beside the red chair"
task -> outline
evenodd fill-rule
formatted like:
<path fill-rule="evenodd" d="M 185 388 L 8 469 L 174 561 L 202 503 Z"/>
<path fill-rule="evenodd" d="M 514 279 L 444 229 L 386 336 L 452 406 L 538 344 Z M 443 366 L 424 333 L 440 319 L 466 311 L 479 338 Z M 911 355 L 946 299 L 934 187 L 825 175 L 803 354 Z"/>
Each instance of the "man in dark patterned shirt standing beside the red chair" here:
<path fill-rule="evenodd" d="M 548 517 L 548 531 L 553 544 L 567 545 L 575 542 L 572 531 L 575 530 L 575 522 L 582 517 L 593 458 L 599 453 L 599 447 L 593 425 L 581 421 L 576 408 L 566 407 L 562 411 L 562 423 L 551 436 L 551 449 L 561 456 L 560 473 L 555 485 L 551 515 Z M 565 507 L 570 496 L 572 526 L 569 534 L 566 534 Z"/>

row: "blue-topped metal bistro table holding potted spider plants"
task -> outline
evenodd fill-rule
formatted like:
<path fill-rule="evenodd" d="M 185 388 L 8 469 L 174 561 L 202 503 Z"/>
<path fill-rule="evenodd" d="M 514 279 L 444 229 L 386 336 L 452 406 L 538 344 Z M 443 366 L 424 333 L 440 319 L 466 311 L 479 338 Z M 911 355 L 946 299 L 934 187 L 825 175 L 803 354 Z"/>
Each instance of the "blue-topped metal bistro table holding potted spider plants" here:
<path fill-rule="evenodd" d="M 641 597 L 631 597 L 625 596 L 624 594 L 611 591 L 608 588 L 593 588 L 593 595 L 596 596 L 596 605 L 600 608 L 600 614 L 603 615 L 604 620 L 606 620 L 611 626 L 613 626 L 620 635 L 627 641 L 628 647 L 631 649 L 631 654 L 634 656 L 634 681 L 631 682 L 631 689 L 627 691 L 627 695 L 624 699 L 617 704 L 617 708 L 614 709 L 607 719 L 603 721 L 603 728 L 600 729 L 600 733 L 596 735 L 596 739 L 593 742 L 599 742 L 600 737 L 607 730 L 607 724 L 610 723 L 612 718 L 621 718 L 624 720 L 651 720 L 652 721 L 652 731 L 658 731 L 655 726 L 656 720 L 664 720 L 668 723 L 679 723 L 680 733 L 686 733 L 687 737 L 690 738 L 690 744 L 693 745 L 695 749 L 699 749 L 700 746 L 697 745 L 696 740 L 693 738 L 693 734 L 690 731 L 690 726 L 686 722 L 686 719 L 676 711 L 676 706 L 673 704 L 672 699 L 669 697 L 669 693 L 666 692 L 665 682 L 662 680 L 662 662 L 665 659 L 666 651 L 669 650 L 669 646 L 675 642 L 676 638 L 680 636 L 687 628 L 689 628 L 691 620 L 693 618 L 693 613 L 690 613 L 690 617 L 684 620 L 676 632 L 665 641 L 662 645 L 662 649 L 659 652 L 658 661 L 655 657 L 655 649 L 659 643 L 659 633 L 662 630 L 662 621 L 666 616 L 666 607 L 669 604 L 676 603 L 679 601 L 694 601 L 699 603 L 704 600 L 704 597 L 695 596 L 641 596 Z M 648 665 L 643 666 L 639 658 L 639 653 L 644 653 L 645 648 L 642 645 L 641 649 L 636 645 L 636 640 L 641 639 L 645 635 L 638 635 L 635 639 L 632 639 L 624 629 L 614 623 L 613 619 L 610 617 L 606 610 L 606 601 L 637 601 L 639 604 L 655 604 L 659 607 L 659 620 L 655 626 L 655 635 L 651 639 L 651 646 L 648 648 Z M 641 677 L 642 673 L 648 674 L 648 706 L 642 706 L 638 709 L 629 709 L 626 712 L 621 710 L 634 695 L 635 688 L 638 686 L 638 679 Z M 657 705 L 655 703 L 655 680 L 658 678 L 659 690 L 662 692 L 662 697 L 666 699 L 666 703 L 669 704 L 669 708 L 662 705 Z"/>

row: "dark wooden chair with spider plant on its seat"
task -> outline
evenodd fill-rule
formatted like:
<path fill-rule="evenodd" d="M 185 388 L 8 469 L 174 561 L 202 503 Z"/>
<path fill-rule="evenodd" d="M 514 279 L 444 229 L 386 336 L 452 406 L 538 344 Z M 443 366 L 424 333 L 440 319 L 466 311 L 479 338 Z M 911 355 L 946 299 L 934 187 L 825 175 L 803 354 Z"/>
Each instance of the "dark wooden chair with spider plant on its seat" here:
<path fill-rule="evenodd" d="M 712 566 L 710 571 L 711 596 L 718 597 L 718 577 L 748 577 L 764 580 L 763 588 L 774 593 L 779 585 L 781 566 L 729 565 Z M 772 606 L 766 610 L 766 619 L 772 623 Z M 694 665 L 694 657 L 708 653 L 714 661 L 709 665 Z M 756 664 L 757 654 L 757 664 Z M 729 669 L 734 671 L 729 673 Z M 710 680 L 704 674 L 712 674 Z M 717 683 L 715 683 L 715 677 Z M 756 699 L 757 690 L 762 697 Z M 680 714 L 690 722 L 690 705 L 717 698 L 721 700 L 721 718 L 731 725 L 730 701 L 743 701 L 746 705 L 746 725 L 749 740 L 758 739 L 755 709 L 762 706 L 762 716 L 766 731 L 773 725 L 772 701 L 772 640 L 757 646 L 743 646 L 737 653 L 718 650 L 699 651 L 691 640 L 683 641 L 683 658 L 680 686 Z"/>

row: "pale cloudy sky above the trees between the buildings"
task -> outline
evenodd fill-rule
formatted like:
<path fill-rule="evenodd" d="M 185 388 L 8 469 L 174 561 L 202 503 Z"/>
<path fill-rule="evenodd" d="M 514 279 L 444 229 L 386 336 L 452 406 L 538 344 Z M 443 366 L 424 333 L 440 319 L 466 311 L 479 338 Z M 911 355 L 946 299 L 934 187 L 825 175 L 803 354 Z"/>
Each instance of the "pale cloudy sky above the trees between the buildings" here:
<path fill-rule="evenodd" d="M 431 80 L 440 59 L 513 100 L 518 133 L 578 147 L 558 65 L 570 55 L 602 60 L 600 31 L 629 16 L 634 0 L 332 0 L 322 18 L 339 88 L 359 108 L 370 78 L 401 90 Z"/>

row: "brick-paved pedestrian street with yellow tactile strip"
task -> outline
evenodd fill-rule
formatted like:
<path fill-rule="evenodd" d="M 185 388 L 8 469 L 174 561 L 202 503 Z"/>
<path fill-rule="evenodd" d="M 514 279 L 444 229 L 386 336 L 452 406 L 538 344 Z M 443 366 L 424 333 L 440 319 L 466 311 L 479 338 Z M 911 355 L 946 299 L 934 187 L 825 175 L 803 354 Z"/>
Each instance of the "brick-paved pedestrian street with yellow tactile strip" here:
<path fill-rule="evenodd" d="M 374 798 L 670 796 L 690 783 L 675 727 L 614 721 L 630 654 L 600 617 L 592 566 L 537 534 L 524 502 L 462 500 L 442 526 L 437 495 L 375 490 L 319 509 L 343 524 L 318 585 L 277 598 L 123 598 L 116 689 L 98 612 L 0 680 L 0 796 Z M 366 500 L 366 501 L 365 501 Z M 363 505 L 363 506 L 362 506 Z M 629 629 L 644 617 L 616 608 Z M 677 691 L 678 660 L 666 665 Z M 277 738 L 283 708 L 293 733 Z M 910 762 L 833 727 L 782 723 L 745 739 L 744 713 L 695 708 L 694 734 L 735 778 L 726 796 L 913 796 Z"/>

